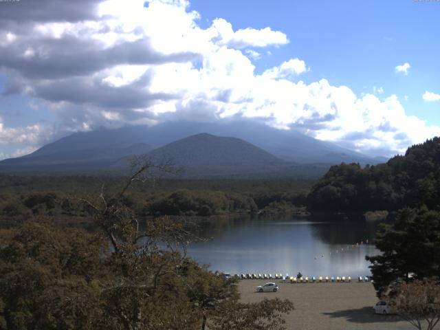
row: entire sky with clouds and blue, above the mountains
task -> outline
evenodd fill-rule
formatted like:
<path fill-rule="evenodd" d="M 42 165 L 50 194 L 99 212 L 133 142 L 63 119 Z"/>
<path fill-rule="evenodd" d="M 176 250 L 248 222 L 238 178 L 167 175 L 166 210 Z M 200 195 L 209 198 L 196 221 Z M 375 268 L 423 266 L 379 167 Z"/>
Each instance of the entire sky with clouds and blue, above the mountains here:
<path fill-rule="evenodd" d="M 254 120 L 372 156 L 440 135 L 440 1 L 0 1 L 0 159 Z"/>

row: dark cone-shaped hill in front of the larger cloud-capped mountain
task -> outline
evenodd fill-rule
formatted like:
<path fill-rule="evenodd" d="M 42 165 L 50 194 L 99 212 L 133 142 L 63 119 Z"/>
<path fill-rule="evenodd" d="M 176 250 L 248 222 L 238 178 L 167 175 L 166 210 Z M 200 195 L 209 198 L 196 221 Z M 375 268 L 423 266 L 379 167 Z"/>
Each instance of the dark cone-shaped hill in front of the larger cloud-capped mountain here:
<path fill-rule="evenodd" d="M 184 177 L 317 177 L 325 168 L 305 166 L 279 159 L 267 151 L 236 137 L 199 133 L 184 137 L 146 153 L 154 162 L 170 162 L 183 168 Z M 113 168 L 126 168 L 124 157 Z M 300 173 L 301 172 L 301 173 Z"/>

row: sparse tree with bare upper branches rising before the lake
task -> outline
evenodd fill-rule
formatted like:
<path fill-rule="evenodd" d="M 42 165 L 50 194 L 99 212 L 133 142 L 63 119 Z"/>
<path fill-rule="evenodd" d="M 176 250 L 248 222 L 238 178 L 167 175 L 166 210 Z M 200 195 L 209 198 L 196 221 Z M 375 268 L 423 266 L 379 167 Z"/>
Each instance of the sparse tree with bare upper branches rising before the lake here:
<path fill-rule="evenodd" d="M 102 186 L 97 201 L 83 199 L 113 250 L 109 263 L 117 280 L 103 289 L 101 296 L 126 330 L 145 329 L 148 315 L 144 315 L 142 307 L 155 294 L 163 277 L 179 274 L 179 267 L 186 260 L 186 245 L 196 239 L 185 229 L 183 220 L 162 217 L 141 225 L 133 210 L 124 205 L 133 183 L 153 179 L 152 170 L 176 173 L 169 162 L 155 164 L 150 159 L 135 159 L 132 174 L 115 195 L 107 197 Z"/>

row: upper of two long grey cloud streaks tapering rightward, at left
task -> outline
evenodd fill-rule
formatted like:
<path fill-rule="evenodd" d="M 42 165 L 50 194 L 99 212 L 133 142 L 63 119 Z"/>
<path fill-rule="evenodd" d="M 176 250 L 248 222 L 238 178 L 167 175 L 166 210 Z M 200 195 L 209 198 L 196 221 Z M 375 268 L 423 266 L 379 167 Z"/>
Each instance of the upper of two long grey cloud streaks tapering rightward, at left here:
<path fill-rule="evenodd" d="M 27 39 L 0 47 L 0 66 L 15 69 L 23 77 L 56 79 L 85 76 L 115 65 L 184 62 L 196 54 L 159 54 L 148 39 L 120 43 L 102 49 L 98 41 L 66 36 L 63 39 Z M 33 56 L 24 56 L 29 50 Z"/>

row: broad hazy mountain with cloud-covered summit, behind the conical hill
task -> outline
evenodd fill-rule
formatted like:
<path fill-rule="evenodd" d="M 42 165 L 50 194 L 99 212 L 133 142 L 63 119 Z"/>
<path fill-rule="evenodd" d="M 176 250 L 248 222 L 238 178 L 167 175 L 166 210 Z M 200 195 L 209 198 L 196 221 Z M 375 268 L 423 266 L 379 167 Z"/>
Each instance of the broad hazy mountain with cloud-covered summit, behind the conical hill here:
<path fill-rule="evenodd" d="M 276 157 L 303 164 L 378 163 L 378 159 L 342 148 L 331 142 L 316 140 L 294 130 L 278 130 L 265 124 L 249 121 L 164 122 L 151 127 L 128 126 L 113 130 L 98 129 L 63 137 L 25 157 L 86 148 L 109 148 L 110 146 L 126 148 L 135 143 L 146 143 L 157 148 L 198 133 L 237 137 L 263 148 Z"/>

